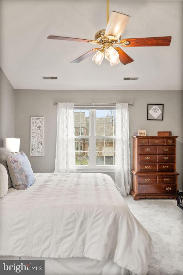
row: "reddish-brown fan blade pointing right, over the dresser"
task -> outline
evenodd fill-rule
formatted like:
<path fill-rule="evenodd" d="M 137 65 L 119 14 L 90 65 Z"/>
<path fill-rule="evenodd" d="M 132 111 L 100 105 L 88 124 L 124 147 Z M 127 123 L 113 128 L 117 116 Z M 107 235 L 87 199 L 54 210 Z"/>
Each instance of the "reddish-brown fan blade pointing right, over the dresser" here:
<path fill-rule="evenodd" d="M 171 36 L 162 37 L 147 37 L 147 38 L 129 38 L 122 39 L 119 44 L 124 47 L 146 47 L 146 46 L 169 46 L 171 41 Z M 129 41 L 130 44 L 122 44 Z"/>

